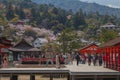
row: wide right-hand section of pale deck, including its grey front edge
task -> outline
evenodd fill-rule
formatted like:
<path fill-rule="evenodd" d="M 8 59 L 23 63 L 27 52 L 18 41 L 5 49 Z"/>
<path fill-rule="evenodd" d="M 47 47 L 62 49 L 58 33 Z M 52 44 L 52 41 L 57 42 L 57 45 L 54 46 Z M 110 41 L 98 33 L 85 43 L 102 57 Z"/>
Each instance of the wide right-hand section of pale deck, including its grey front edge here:
<path fill-rule="evenodd" d="M 87 64 L 66 65 L 71 75 L 120 75 L 119 71 L 104 68 L 103 66 L 88 66 Z"/>

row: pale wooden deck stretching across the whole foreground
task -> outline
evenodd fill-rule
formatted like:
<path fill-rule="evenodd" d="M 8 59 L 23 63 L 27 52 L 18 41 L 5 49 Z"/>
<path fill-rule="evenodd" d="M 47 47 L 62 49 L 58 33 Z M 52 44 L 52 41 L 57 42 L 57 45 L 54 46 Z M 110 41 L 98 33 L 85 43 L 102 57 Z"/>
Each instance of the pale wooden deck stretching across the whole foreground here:
<path fill-rule="evenodd" d="M 22 66 L 22 67 L 21 67 Z M 24 67 L 23 67 L 24 66 Z M 19 67 L 19 68 L 18 68 Z M 31 72 L 31 73 L 39 73 L 39 72 L 51 72 L 51 71 L 59 71 L 59 72 L 69 72 L 69 73 L 117 73 L 115 75 L 120 75 L 119 71 L 116 70 L 111 70 L 111 69 L 107 69 L 104 68 L 103 66 L 88 66 L 87 64 L 79 64 L 79 66 L 77 66 L 75 63 L 72 65 L 61 65 L 60 69 L 55 68 L 55 65 L 49 65 L 49 66 L 45 66 L 45 65 L 19 65 L 17 67 L 14 68 L 1 68 L 0 69 L 0 73 L 24 73 L 24 72 Z"/>

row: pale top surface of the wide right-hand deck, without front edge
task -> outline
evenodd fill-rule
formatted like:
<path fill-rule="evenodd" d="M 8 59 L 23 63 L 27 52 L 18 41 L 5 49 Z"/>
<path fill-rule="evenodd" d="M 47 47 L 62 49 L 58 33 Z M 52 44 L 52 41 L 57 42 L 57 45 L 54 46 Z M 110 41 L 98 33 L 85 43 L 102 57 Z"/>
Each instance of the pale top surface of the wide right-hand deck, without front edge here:
<path fill-rule="evenodd" d="M 93 64 L 91 64 L 91 66 L 88 66 L 88 64 L 79 64 L 77 66 L 75 61 L 72 65 L 66 65 L 66 68 L 68 68 L 70 72 L 118 72 L 104 68 L 103 66 L 94 66 Z"/>

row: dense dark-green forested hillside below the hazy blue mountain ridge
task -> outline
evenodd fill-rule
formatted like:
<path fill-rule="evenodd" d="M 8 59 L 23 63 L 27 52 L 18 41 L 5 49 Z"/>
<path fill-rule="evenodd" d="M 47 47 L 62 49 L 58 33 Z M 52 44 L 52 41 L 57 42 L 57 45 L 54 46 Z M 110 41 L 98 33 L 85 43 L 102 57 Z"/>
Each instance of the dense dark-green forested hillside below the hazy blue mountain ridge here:
<path fill-rule="evenodd" d="M 65 3 L 71 0 L 61 1 Z M 75 2 L 77 3 L 77 0 Z M 66 11 L 54 5 L 38 5 L 31 0 L 0 0 L 0 25 L 5 27 L 4 34 L 11 36 L 8 24 L 15 24 L 18 20 L 27 19 L 29 22 L 26 24 L 34 28 L 45 28 L 54 31 L 55 35 L 69 28 L 83 31 L 85 33 L 83 37 L 87 39 L 93 38 L 94 40 L 98 38 L 96 34 L 101 25 L 112 23 L 118 27 L 120 26 L 120 19 L 116 16 L 100 14 L 99 12 L 86 13 L 83 10 L 79 9 L 76 13 L 73 13 L 71 10 Z M 14 34 L 14 32 L 17 31 L 14 30 L 11 34 Z M 28 35 L 31 35 L 31 33 L 27 32 Z M 32 37 L 34 36 L 36 35 L 32 35 Z"/>

